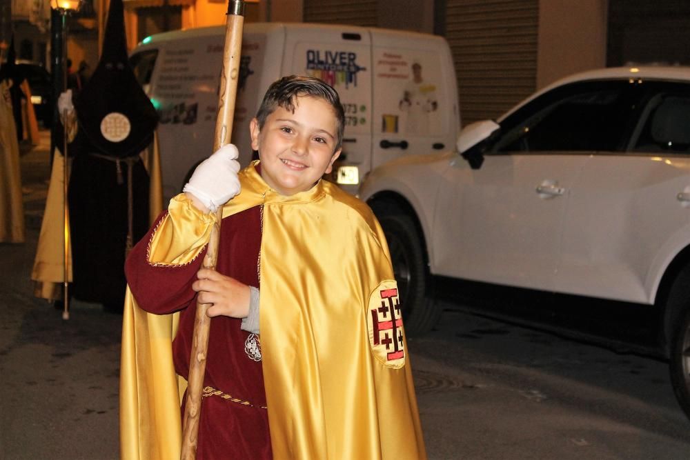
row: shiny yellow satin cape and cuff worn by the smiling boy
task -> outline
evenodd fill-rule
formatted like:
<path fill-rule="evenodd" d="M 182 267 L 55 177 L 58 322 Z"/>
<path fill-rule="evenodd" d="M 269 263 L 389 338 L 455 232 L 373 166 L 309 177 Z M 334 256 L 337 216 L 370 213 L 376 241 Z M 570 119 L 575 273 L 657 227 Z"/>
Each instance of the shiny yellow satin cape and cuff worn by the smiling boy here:
<path fill-rule="evenodd" d="M 408 357 L 396 366 L 378 359 L 367 326 L 373 293 L 382 283 L 395 286 L 371 210 L 326 181 L 282 196 L 254 166 L 240 172 L 242 192 L 223 216 L 264 205 L 260 330 L 273 456 L 426 458 Z M 200 214 L 184 195 L 170 201 L 169 211 L 150 241 L 150 263 L 188 263 L 208 241 L 213 216 Z M 172 367 L 173 316 L 140 310 L 128 293 L 124 459 L 179 457 L 183 389 Z"/>

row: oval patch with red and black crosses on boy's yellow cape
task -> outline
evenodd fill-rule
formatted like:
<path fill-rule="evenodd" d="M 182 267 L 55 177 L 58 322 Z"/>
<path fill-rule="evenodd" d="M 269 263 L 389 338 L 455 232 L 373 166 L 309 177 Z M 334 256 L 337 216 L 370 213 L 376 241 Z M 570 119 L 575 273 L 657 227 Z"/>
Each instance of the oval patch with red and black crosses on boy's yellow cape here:
<path fill-rule="evenodd" d="M 405 365 L 405 332 L 397 283 L 383 281 L 369 296 L 366 315 L 369 345 L 378 361 L 400 369 Z"/>

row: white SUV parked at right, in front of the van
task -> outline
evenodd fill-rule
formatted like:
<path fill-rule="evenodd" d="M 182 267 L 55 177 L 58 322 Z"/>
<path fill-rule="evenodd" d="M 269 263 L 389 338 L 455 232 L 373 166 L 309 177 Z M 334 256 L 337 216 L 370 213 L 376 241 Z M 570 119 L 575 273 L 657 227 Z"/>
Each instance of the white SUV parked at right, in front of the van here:
<path fill-rule="evenodd" d="M 437 279 L 656 308 L 690 417 L 690 68 L 574 75 L 467 126 L 457 150 L 388 163 L 360 188 L 408 330 L 437 320 Z"/>

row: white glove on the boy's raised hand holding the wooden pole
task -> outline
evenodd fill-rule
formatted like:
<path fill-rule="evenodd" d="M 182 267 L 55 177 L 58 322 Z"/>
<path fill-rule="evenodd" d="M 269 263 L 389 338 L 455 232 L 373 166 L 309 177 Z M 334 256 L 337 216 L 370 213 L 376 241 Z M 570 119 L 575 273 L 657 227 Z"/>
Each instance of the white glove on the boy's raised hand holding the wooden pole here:
<path fill-rule="evenodd" d="M 202 161 L 182 189 L 191 193 L 206 208 L 215 211 L 239 193 L 239 152 L 228 143 Z"/>

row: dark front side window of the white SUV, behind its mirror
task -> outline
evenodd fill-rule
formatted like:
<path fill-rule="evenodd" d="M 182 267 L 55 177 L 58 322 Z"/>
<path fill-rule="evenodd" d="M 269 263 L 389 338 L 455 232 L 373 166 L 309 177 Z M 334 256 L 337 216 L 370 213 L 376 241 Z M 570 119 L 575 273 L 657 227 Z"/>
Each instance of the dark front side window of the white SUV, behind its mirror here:
<path fill-rule="evenodd" d="M 555 88 L 501 123 L 491 152 L 595 152 L 622 148 L 634 106 L 626 81 Z"/>

